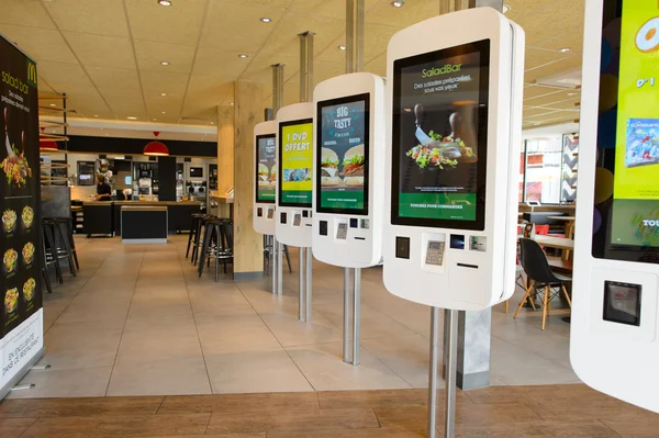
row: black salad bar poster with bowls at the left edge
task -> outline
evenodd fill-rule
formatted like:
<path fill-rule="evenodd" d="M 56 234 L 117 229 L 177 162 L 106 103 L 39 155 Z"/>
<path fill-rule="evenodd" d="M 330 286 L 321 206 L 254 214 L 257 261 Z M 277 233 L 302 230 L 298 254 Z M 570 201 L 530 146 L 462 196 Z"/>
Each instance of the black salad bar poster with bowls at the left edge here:
<path fill-rule="evenodd" d="M 7 337 L 42 307 L 41 186 L 36 65 L 3 38 L 0 54 L 0 334 Z"/>

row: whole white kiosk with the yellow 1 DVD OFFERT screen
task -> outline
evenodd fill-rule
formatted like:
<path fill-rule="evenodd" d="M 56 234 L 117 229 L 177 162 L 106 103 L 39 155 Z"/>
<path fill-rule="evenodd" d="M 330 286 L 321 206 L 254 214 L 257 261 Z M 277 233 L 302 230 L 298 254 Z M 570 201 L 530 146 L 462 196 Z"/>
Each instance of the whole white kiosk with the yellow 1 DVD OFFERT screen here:
<path fill-rule="evenodd" d="M 313 193 L 313 103 L 277 112 L 277 240 L 310 247 Z"/>

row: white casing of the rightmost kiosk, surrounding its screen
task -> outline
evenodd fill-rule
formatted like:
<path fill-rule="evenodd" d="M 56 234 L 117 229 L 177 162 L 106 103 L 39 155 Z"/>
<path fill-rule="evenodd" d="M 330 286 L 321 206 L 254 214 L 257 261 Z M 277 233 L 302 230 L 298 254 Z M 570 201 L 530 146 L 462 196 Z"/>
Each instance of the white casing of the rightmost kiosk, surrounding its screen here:
<path fill-rule="evenodd" d="M 647 19 L 638 22 L 638 27 L 645 20 L 657 16 L 656 3 L 652 9 L 654 12 L 648 12 Z M 657 372 L 659 363 L 659 340 L 657 339 L 659 265 L 656 261 L 652 263 L 593 256 L 595 168 L 597 146 L 601 146 L 597 138 L 597 126 L 604 11 L 603 0 L 587 0 L 585 16 L 589 20 L 585 22 L 583 46 L 581 147 L 579 148 L 579 190 L 574 238 L 573 290 L 576 292 L 572 297 L 570 361 L 579 378 L 589 386 L 659 413 L 659 397 L 657 396 L 659 393 L 659 373 Z M 622 21 L 625 30 L 624 13 L 623 9 Z M 635 11 L 635 14 L 637 13 L 638 10 Z M 628 34 L 628 36 L 634 37 L 635 35 Z M 624 43 L 621 41 L 621 44 Z M 621 56 L 622 54 L 623 49 L 621 49 Z M 634 54 L 638 57 L 652 56 L 652 54 L 643 54 L 640 50 L 634 52 Z M 621 59 L 622 64 L 623 59 Z M 625 86 L 627 85 L 621 82 L 621 87 Z M 657 108 L 657 91 L 648 89 L 647 94 L 648 102 L 654 101 L 655 108 Z M 618 116 L 623 116 L 619 111 L 622 110 L 618 106 Z M 634 111 L 638 113 L 638 111 Z M 616 149 L 619 139 L 621 137 L 616 139 Z M 619 150 L 616 151 L 616 155 L 618 153 Z M 621 165 L 616 157 L 617 166 Z M 655 202 L 659 207 L 659 201 Z M 610 214 L 613 214 L 613 210 Z M 651 218 L 657 220 L 657 214 L 659 213 L 656 209 L 655 216 Z M 603 224 L 601 227 L 606 227 L 606 225 Z M 611 228 L 606 231 L 606 246 L 608 246 L 612 239 Z M 634 248 L 627 250 L 629 249 Z M 657 248 L 655 248 L 656 250 Z M 616 250 L 610 247 L 606 251 L 613 256 Z M 657 257 L 659 255 L 655 252 L 655 260 Z M 635 312 L 638 317 L 637 324 L 605 321 L 607 307 L 605 288 L 610 288 L 610 284 L 622 287 L 623 290 L 627 289 L 626 285 L 638 287 L 640 296 L 636 297 L 638 308 Z M 613 293 L 613 291 L 608 291 L 608 293 Z"/>

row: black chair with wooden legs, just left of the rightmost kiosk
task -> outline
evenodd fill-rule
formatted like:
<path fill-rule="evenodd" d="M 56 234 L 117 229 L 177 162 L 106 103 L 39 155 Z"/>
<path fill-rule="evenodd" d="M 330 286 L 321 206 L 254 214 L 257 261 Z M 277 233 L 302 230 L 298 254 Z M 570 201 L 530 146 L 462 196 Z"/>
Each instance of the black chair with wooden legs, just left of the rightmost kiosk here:
<path fill-rule="evenodd" d="M 551 304 L 551 300 L 559 296 L 562 292 L 566 296 L 568 305 L 572 307 L 570 295 L 568 294 L 568 291 L 565 285 L 566 283 L 571 282 L 572 279 L 570 277 L 561 276 L 551 271 L 549 262 L 547 261 L 547 256 L 545 255 L 543 248 L 540 248 L 537 242 L 522 237 L 520 239 L 520 249 L 522 267 L 524 268 L 524 272 L 526 272 L 529 284 L 526 288 L 526 293 L 524 294 L 522 302 L 517 306 L 517 311 L 515 312 L 514 317 L 517 317 L 517 314 L 520 313 L 522 306 L 527 300 L 535 308 L 535 304 L 533 303 L 532 297 L 532 292 L 535 292 L 535 294 L 539 294 L 543 297 L 544 330 L 547 315 L 549 315 L 549 306 Z"/>

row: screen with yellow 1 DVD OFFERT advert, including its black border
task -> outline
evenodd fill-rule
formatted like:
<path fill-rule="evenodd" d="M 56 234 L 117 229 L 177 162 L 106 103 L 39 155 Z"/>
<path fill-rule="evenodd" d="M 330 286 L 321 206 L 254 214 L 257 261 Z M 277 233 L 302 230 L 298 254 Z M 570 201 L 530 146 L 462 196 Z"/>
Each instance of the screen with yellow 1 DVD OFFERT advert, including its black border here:
<path fill-rule="evenodd" d="M 279 124 L 279 205 L 311 207 L 312 119 Z"/>

